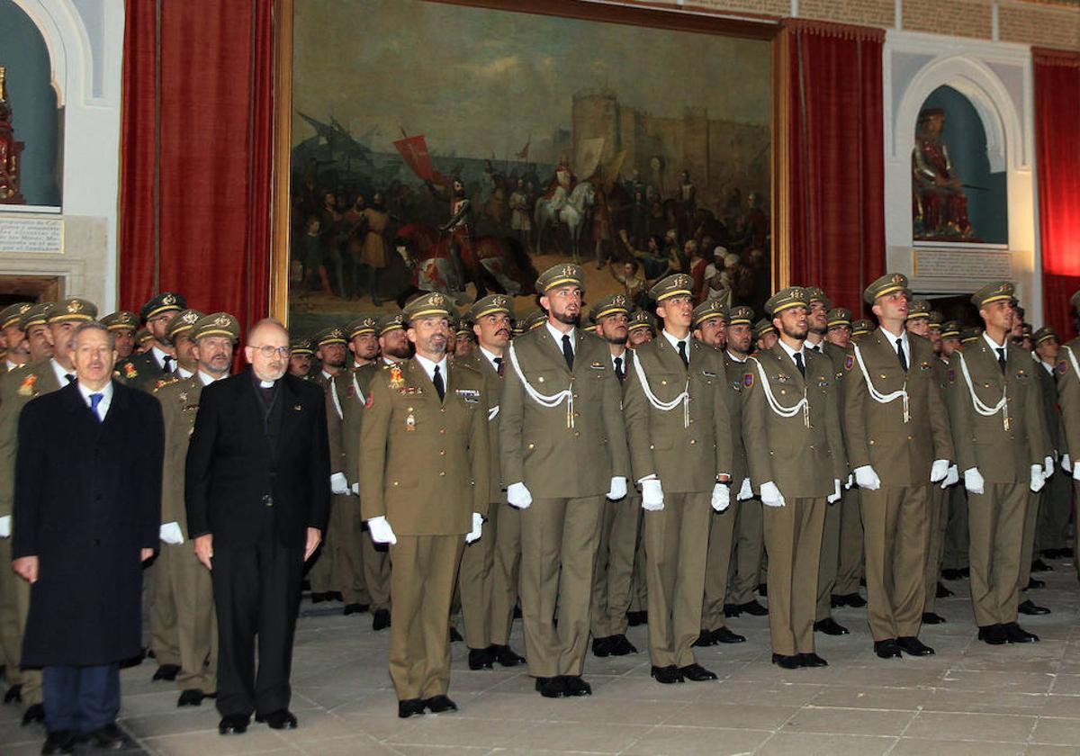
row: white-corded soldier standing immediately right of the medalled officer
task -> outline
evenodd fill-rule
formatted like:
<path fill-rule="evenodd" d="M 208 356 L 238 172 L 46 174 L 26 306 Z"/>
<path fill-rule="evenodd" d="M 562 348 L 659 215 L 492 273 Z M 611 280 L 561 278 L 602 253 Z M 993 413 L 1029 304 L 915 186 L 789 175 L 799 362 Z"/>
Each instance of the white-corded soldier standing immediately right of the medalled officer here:
<path fill-rule="evenodd" d="M 603 500 L 626 496 L 629 473 L 610 352 L 577 328 L 582 282 L 571 264 L 537 279 L 548 321 L 511 342 L 499 410 L 502 480 L 522 510 L 525 656 L 548 698 L 592 693 L 581 673 Z"/>

